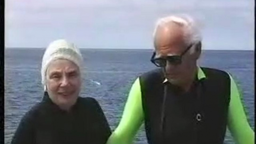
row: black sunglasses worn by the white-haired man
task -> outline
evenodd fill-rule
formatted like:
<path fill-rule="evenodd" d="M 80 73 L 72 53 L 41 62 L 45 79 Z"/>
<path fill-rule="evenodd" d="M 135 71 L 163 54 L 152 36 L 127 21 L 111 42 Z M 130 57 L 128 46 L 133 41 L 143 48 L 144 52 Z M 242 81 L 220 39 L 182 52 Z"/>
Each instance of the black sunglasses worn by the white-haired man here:
<path fill-rule="evenodd" d="M 165 67 L 167 60 L 169 63 L 171 63 L 172 65 L 179 65 L 182 62 L 182 56 L 193 46 L 193 44 L 191 44 L 190 46 L 188 46 L 186 48 L 185 51 L 183 51 L 181 53 L 181 55 L 176 55 L 176 56 L 166 56 L 166 57 L 159 57 L 159 58 L 155 58 L 156 56 L 156 52 L 154 51 L 150 61 L 152 63 L 154 63 L 154 65 L 156 65 L 157 67 Z"/>

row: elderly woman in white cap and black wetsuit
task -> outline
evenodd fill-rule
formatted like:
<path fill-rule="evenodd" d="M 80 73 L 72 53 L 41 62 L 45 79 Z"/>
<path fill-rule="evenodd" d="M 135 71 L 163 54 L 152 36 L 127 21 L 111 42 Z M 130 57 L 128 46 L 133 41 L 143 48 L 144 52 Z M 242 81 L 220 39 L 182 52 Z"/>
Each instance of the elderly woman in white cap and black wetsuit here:
<path fill-rule="evenodd" d="M 99 103 L 79 97 L 82 56 L 74 44 L 53 41 L 42 61 L 43 100 L 22 118 L 12 144 L 104 144 L 109 124 Z"/>

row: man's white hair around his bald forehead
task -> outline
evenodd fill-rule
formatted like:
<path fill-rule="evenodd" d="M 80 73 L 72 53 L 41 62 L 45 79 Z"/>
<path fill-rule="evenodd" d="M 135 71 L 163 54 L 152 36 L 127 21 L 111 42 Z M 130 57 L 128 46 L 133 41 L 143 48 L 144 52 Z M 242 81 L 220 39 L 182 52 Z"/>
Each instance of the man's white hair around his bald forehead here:
<path fill-rule="evenodd" d="M 154 28 L 153 32 L 153 38 L 154 38 L 154 43 L 156 40 L 156 32 L 157 29 L 163 26 L 167 26 L 170 22 L 177 23 L 184 28 L 184 40 L 185 44 L 190 45 L 190 44 L 196 44 L 200 41 L 202 41 L 202 35 L 199 30 L 199 25 L 194 21 L 194 19 L 189 16 L 189 15 L 171 15 L 167 16 L 164 18 L 160 18 L 156 22 L 156 26 Z M 190 53 L 194 52 L 194 49 L 190 50 Z"/>

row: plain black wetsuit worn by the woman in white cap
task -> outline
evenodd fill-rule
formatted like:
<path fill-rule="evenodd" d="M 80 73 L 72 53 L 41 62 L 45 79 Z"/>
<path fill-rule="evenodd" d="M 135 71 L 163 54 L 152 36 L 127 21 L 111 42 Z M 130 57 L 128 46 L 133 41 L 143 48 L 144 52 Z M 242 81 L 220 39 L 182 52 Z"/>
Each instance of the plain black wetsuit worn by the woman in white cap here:
<path fill-rule="evenodd" d="M 12 144 L 105 144 L 111 131 L 94 98 L 78 97 L 69 112 L 47 93 L 19 123 Z"/>

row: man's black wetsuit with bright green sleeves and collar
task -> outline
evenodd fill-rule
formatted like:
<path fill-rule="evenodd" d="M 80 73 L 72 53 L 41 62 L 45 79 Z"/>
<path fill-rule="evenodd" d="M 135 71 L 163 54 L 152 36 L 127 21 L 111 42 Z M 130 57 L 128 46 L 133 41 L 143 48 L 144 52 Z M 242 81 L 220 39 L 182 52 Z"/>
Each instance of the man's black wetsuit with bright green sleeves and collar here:
<path fill-rule="evenodd" d="M 198 68 L 197 78 L 185 94 L 164 83 L 160 70 L 136 79 L 122 119 L 107 144 L 131 144 L 143 121 L 149 144 L 222 144 L 226 126 L 237 144 L 254 143 L 254 132 L 230 74 Z M 165 85 L 168 85 L 166 98 Z"/>

